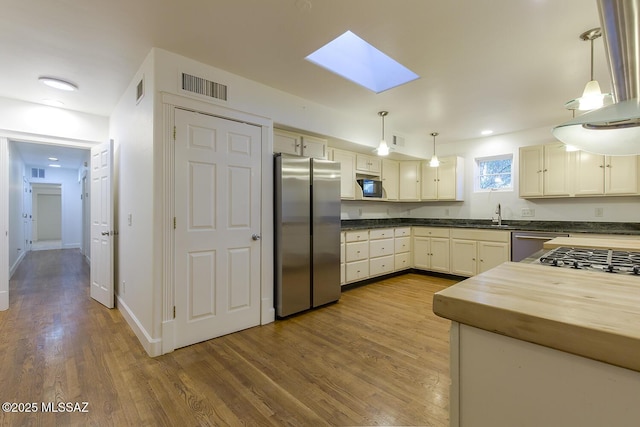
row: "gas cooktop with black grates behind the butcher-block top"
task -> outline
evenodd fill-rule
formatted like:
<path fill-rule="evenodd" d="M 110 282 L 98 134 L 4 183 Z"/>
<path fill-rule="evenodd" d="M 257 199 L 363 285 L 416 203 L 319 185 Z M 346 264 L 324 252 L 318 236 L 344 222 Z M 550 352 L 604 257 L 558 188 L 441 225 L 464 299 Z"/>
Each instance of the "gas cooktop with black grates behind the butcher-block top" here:
<path fill-rule="evenodd" d="M 538 261 L 553 267 L 640 275 L 640 252 L 562 246 L 545 253 Z"/>

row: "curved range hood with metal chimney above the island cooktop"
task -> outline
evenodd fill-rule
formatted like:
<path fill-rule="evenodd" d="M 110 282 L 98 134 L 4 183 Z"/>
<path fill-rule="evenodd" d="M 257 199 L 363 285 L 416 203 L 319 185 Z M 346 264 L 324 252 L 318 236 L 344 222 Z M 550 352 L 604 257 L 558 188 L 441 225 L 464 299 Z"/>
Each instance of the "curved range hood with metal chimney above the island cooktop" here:
<path fill-rule="evenodd" d="M 616 103 L 552 131 L 560 141 L 605 155 L 640 154 L 640 0 L 598 0 Z"/>

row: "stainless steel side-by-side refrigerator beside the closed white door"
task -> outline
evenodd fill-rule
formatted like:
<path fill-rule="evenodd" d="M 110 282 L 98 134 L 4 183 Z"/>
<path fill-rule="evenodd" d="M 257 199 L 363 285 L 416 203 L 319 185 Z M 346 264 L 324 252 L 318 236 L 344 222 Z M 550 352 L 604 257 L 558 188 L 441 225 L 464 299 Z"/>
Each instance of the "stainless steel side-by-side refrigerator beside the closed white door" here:
<path fill-rule="evenodd" d="M 276 314 L 340 299 L 340 164 L 275 157 Z"/>

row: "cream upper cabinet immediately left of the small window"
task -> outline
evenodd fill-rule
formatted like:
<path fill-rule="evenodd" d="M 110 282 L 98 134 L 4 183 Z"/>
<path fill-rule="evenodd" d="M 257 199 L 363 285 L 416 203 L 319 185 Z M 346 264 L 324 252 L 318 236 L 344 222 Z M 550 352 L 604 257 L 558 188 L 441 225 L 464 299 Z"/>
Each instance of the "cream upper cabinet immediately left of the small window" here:
<path fill-rule="evenodd" d="M 464 197 L 464 159 L 443 157 L 440 166 L 432 168 L 429 162 L 421 165 L 422 200 L 462 200 Z"/>

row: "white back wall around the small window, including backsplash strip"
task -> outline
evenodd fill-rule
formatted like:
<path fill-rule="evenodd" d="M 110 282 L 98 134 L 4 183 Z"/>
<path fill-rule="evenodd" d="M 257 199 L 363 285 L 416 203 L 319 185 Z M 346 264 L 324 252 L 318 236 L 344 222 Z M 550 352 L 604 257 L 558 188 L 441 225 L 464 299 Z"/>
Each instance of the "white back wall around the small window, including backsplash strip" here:
<path fill-rule="evenodd" d="M 505 220 L 639 222 L 640 196 L 574 197 L 521 199 L 518 197 L 518 148 L 557 142 L 551 127 L 508 135 L 484 137 L 436 146 L 438 157 L 458 155 L 465 159 L 463 202 L 381 203 L 347 201 L 342 203 L 343 219 L 359 218 L 457 218 L 490 219 L 498 203 Z M 426 151 L 426 150 L 425 150 Z M 428 153 L 431 154 L 431 151 Z M 474 159 L 513 154 L 513 191 L 474 192 Z M 427 158 L 427 153 L 423 158 Z M 522 209 L 534 209 L 534 217 L 522 217 Z M 596 217 L 595 209 L 603 216 Z"/>

